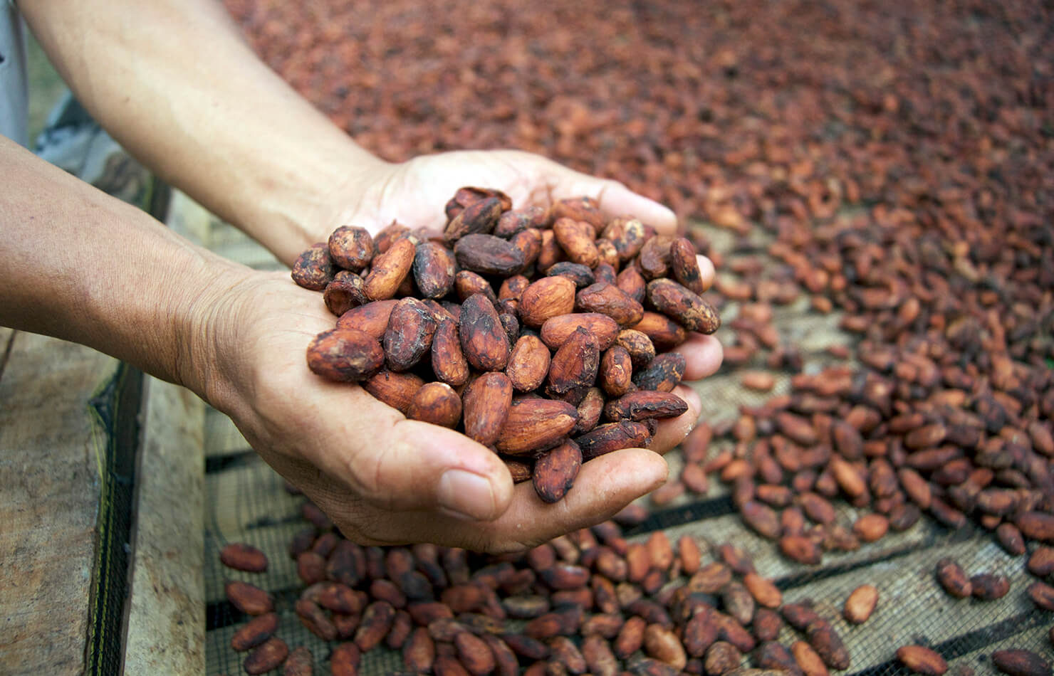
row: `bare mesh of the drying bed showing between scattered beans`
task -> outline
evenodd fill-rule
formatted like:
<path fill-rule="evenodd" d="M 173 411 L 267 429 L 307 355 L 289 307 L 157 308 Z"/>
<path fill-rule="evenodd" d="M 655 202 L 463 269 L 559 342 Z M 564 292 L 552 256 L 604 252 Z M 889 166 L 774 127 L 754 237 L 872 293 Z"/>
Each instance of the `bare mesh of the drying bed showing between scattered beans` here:
<path fill-rule="evenodd" d="M 702 227 L 702 226 L 701 226 Z M 718 251 L 728 251 L 734 242 L 726 234 L 704 228 Z M 763 239 L 758 240 L 763 243 Z M 727 322 L 738 311 L 728 303 L 722 312 Z M 776 323 L 787 342 L 798 345 L 804 358 L 803 370 L 815 372 L 839 361 L 827 349 L 851 344 L 853 337 L 838 329 L 837 314 L 822 315 L 799 299 L 778 307 Z M 721 332 L 723 339 L 730 332 Z M 765 367 L 763 357 L 745 367 Z M 776 385 L 769 393 L 747 390 L 740 383 L 740 370 L 725 367 L 717 375 L 695 383 L 701 395 L 701 418 L 721 421 L 739 415 L 740 406 L 753 406 L 768 397 L 789 391 L 789 374 L 774 372 Z M 210 675 L 241 671 L 245 653 L 230 648 L 231 635 L 249 618 L 223 599 L 227 579 L 243 579 L 271 591 L 281 621 L 277 635 L 292 649 L 307 645 L 320 673 L 329 673 L 328 657 L 333 644 L 311 634 L 297 619 L 293 604 L 302 590 L 295 562 L 287 554 L 293 534 L 307 522 L 300 516 L 300 501 L 286 492 L 282 479 L 270 470 L 248 446 L 238 446 L 231 435 L 213 444 L 227 451 L 214 455 L 208 466 L 208 497 L 211 520 L 207 533 L 207 598 L 209 599 L 208 669 Z M 236 436 L 236 435 L 235 435 Z M 208 444 L 208 442 L 207 442 Z M 727 440 L 717 440 L 711 455 L 730 448 Z M 670 476 L 677 476 L 683 460 L 679 450 L 667 455 Z M 910 673 L 894 658 L 900 645 L 919 643 L 937 650 L 955 674 L 995 673 L 989 656 L 1002 648 L 1026 648 L 1050 656 L 1047 632 L 1050 614 L 1035 610 L 1026 595 L 1034 580 L 1024 570 L 1026 557 L 1012 557 L 996 544 L 991 534 L 979 526 L 950 532 L 923 517 L 903 533 L 891 533 L 858 551 L 826 553 L 819 566 L 794 563 L 779 555 L 774 544 L 745 528 L 733 505 L 728 488 L 716 481 L 705 496 L 682 495 L 661 509 L 651 508 L 650 516 L 625 532 L 631 541 L 644 541 L 656 530 L 664 530 L 671 542 L 689 535 L 711 549 L 733 542 L 754 557 L 758 572 L 776 581 L 784 602 L 811 599 L 821 616 L 829 619 L 852 656 L 847 674 L 886 676 Z M 649 504 L 647 498 L 642 499 Z M 846 526 L 855 521 L 858 510 L 835 501 L 838 521 Z M 266 574 L 238 573 L 225 569 L 218 560 L 219 549 L 228 541 L 243 541 L 268 553 L 271 566 Z M 1011 591 L 1002 599 L 981 601 L 953 599 L 934 579 L 936 562 L 943 557 L 957 560 L 968 574 L 988 572 L 1006 575 Z M 713 558 L 713 555 L 706 560 Z M 484 562 L 481 561 L 481 564 Z M 879 590 L 878 608 L 862 625 L 842 619 L 842 604 L 860 584 Z M 788 648 L 803 636 L 784 627 L 778 640 Z M 578 639 L 575 639 L 578 640 Z M 335 643 L 334 643 L 335 644 Z M 521 661 L 526 667 L 526 661 Z M 744 656 L 743 665 L 753 665 Z M 360 673 L 388 674 L 403 668 L 402 657 L 385 647 L 364 655 Z"/>

